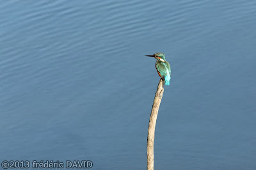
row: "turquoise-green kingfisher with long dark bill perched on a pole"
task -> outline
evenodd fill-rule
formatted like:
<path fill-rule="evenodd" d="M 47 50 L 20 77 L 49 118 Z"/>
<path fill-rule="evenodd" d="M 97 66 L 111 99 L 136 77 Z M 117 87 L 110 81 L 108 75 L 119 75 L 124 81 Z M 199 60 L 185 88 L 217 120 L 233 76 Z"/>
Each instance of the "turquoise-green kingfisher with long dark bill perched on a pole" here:
<path fill-rule="evenodd" d="M 170 85 L 171 79 L 171 67 L 170 64 L 165 60 L 164 53 L 157 52 L 154 55 L 146 55 L 147 57 L 156 58 L 156 70 L 161 79 L 164 80 L 165 85 Z"/>

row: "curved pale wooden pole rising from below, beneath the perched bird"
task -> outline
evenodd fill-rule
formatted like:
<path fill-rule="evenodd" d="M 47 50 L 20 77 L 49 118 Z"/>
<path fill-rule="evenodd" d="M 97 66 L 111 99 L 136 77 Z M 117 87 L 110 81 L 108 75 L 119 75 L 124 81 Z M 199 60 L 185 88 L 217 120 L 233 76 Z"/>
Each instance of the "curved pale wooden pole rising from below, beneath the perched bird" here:
<path fill-rule="evenodd" d="M 155 128 L 156 128 L 156 119 L 161 104 L 161 100 L 164 93 L 164 83 L 163 79 L 160 79 L 157 86 L 156 95 L 154 103 L 152 105 L 152 111 L 150 114 L 150 119 L 148 123 L 148 143 L 147 143 L 147 169 L 154 170 L 154 140 L 155 140 Z"/>

